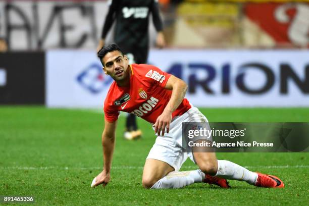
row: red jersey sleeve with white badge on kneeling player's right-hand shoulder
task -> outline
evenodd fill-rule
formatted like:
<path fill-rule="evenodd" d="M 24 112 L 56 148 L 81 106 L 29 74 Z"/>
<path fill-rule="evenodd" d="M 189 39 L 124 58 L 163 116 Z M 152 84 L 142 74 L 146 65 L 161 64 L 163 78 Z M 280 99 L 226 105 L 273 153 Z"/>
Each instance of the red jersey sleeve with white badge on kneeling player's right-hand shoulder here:
<path fill-rule="evenodd" d="M 167 81 L 169 80 L 170 76 L 169 73 L 166 73 L 159 69 L 158 67 L 152 65 L 145 65 L 145 78 L 144 80 L 149 82 L 150 85 L 157 85 L 161 87 L 165 87 Z"/>

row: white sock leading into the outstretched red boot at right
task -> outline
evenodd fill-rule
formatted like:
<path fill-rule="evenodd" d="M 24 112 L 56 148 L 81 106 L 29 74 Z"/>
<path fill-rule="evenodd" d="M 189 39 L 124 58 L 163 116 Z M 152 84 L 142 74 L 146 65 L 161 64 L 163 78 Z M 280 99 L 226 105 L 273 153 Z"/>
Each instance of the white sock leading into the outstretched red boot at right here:
<path fill-rule="evenodd" d="M 218 160 L 218 171 L 215 176 L 230 180 L 246 181 L 254 185 L 258 179 L 258 174 L 251 172 L 244 167 L 226 160 Z"/>

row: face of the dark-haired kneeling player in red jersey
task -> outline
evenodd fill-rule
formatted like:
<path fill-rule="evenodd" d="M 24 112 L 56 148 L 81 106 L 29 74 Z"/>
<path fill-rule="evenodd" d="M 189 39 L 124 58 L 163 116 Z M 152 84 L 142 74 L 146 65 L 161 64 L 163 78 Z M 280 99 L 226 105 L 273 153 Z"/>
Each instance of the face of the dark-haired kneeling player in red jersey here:
<path fill-rule="evenodd" d="M 109 52 L 102 59 L 104 72 L 115 81 L 126 80 L 129 77 L 129 61 L 119 51 Z"/>

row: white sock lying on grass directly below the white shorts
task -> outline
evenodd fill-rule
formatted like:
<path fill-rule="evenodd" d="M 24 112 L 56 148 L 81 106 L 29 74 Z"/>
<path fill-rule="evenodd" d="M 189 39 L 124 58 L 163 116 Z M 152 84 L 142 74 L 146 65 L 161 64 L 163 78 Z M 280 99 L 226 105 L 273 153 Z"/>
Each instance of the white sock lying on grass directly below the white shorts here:
<path fill-rule="evenodd" d="M 204 178 L 205 174 L 200 170 L 170 172 L 150 189 L 181 188 L 195 182 L 201 182 Z"/>

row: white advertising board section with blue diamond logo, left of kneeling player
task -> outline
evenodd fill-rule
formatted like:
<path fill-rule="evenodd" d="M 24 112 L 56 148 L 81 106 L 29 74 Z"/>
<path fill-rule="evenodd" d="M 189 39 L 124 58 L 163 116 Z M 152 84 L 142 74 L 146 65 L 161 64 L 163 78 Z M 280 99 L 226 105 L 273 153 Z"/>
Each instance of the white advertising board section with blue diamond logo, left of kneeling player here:
<path fill-rule="evenodd" d="M 53 50 L 46 53 L 46 105 L 103 108 L 113 79 L 102 72 L 94 52 Z"/>

